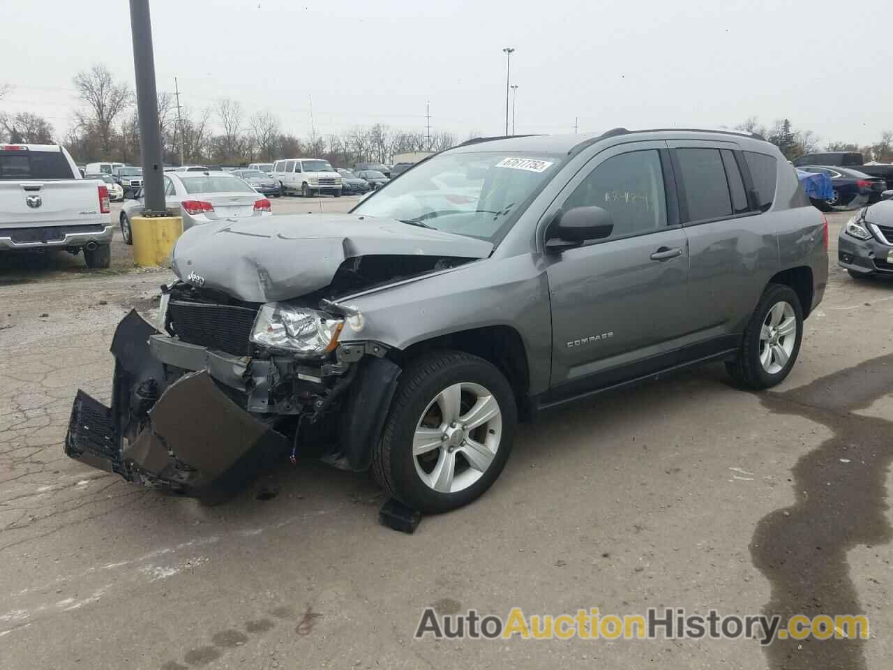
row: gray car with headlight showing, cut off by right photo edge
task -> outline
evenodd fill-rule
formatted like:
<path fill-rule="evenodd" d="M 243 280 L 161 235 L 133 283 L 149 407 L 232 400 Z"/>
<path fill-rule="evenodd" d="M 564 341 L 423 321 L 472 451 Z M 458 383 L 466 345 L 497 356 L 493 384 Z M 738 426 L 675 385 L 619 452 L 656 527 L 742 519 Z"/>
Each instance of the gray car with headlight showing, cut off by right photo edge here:
<path fill-rule="evenodd" d="M 840 230 L 838 263 L 854 279 L 893 277 L 893 200 L 865 207 Z"/>

